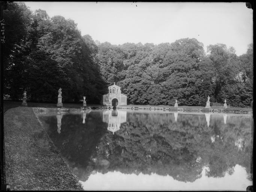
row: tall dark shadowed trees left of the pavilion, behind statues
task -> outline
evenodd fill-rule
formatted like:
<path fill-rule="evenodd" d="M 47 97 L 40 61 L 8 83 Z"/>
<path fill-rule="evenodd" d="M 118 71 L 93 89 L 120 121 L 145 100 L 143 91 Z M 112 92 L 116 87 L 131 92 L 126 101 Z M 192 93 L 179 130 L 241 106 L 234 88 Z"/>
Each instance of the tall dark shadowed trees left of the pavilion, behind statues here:
<path fill-rule="evenodd" d="M 5 94 L 20 99 L 26 89 L 30 100 L 56 102 L 62 87 L 64 102 L 83 96 L 100 101 L 107 84 L 94 61 L 96 45 L 89 35 L 81 36 L 73 20 L 50 18 L 40 9 L 32 13 L 24 3 L 9 3 L 5 17 L 6 23 L 19 20 L 18 29 L 9 26 L 15 38 L 5 48 Z"/>

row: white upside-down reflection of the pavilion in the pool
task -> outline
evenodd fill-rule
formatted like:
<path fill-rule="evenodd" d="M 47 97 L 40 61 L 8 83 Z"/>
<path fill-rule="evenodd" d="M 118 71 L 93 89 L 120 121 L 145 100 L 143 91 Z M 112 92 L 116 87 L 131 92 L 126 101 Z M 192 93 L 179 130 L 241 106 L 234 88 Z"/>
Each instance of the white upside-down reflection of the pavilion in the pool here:
<path fill-rule="evenodd" d="M 108 110 L 103 112 L 102 121 L 108 123 L 108 130 L 116 132 L 120 129 L 121 123 L 126 122 L 126 111 Z"/>

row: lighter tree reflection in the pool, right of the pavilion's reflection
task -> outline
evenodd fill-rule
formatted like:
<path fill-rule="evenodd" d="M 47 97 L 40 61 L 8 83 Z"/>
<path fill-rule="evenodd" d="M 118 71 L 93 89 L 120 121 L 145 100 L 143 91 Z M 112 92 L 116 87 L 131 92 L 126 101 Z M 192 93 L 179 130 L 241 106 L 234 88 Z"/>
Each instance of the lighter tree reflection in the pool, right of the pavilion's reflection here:
<path fill-rule="evenodd" d="M 221 122 L 223 117 L 213 118 L 209 129 L 205 117 L 200 115 L 183 115 L 181 119 L 175 123 L 170 114 L 128 115 L 128 122 L 121 127 L 123 132 L 117 132 L 115 138 L 104 137 L 112 141 L 108 149 L 109 170 L 119 167 L 123 173 L 156 172 L 193 181 L 199 177 L 204 165 L 209 165 L 208 175 L 214 177 L 222 176 L 226 171 L 232 173 L 232 167 L 238 163 L 250 168 L 250 163 L 245 163 L 250 162 L 245 157 L 249 157 L 248 154 L 240 153 L 234 140 L 226 137 L 234 127 L 226 126 L 225 129 Z M 245 129 L 250 134 L 248 124 Z M 216 135 L 214 144 L 210 142 L 212 134 Z M 104 148 L 107 141 L 100 143 L 100 148 Z M 116 146 L 123 148 L 122 153 L 116 154 Z M 98 155 L 101 155 L 100 151 Z M 196 162 L 198 156 L 202 156 L 201 162 Z"/>

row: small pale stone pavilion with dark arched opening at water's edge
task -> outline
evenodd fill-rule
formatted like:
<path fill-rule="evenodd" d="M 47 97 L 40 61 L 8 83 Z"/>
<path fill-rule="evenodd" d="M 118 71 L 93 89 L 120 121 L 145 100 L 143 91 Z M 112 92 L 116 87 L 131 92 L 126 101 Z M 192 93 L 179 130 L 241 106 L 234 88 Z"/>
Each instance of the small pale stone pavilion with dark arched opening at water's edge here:
<path fill-rule="evenodd" d="M 121 88 L 114 83 L 108 87 L 108 93 L 102 96 L 102 105 L 127 105 L 127 96 L 121 93 Z"/>

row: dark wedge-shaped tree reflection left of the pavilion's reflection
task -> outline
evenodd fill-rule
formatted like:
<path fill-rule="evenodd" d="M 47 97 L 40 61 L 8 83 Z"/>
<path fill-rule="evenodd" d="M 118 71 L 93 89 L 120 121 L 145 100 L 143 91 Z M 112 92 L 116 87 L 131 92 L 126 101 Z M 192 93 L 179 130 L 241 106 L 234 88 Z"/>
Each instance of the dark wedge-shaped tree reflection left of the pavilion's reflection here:
<path fill-rule="evenodd" d="M 101 122 L 101 114 L 87 114 L 85 124 L 81 114 L 65 114 L 62 117 L 61 134 L 57 133 L 56 116 L 39 118 L 45 122 L 46 127 L 48 124 L 48 135 L 60 150 L 71 171 L 80 180 L 87 180 L 96 164 L 91 156 L 102 135 L 107 132 L 107 123 Z"/>

